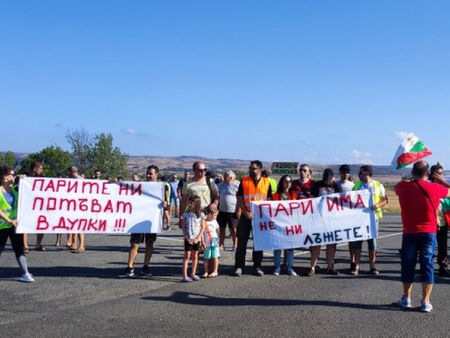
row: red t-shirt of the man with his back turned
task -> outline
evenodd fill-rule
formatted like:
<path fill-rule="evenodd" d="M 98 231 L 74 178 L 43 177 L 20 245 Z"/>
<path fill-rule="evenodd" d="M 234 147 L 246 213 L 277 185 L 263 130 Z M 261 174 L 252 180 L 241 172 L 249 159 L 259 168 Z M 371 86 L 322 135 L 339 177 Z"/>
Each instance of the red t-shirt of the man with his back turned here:
<path fill-rule="evenodd" d="M 448 189 L 437 183 L 418 181 L 433 202 L 435 210 L 439 200 L 447 197 Z M 436 233 L 437 221 L 429 199 L 413 181 L 402 181 L 395 186 L 402 209 L 403 233 Z"/>

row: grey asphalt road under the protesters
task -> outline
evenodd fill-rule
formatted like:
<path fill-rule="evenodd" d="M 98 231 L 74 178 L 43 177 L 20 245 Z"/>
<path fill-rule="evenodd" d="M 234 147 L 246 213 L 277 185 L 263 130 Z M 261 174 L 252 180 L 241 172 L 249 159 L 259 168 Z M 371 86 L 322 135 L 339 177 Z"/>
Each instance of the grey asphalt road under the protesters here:
<path fill-rule="evenodd" d="M 29 237 L 34 243 L 35 236 Z M 449 336 L 450 279 L 436 275 L 432 313 L 418 311 L 418 284 L 413 309 L 396 306 L 402 293 L 398 215 L 386 215 L 380 225 L 381 273 L 375 277 L 367 273 L 365 245 L 357 277 L 348 274 L 347 245 L 342 245 L 336 254 L 338 276 L 273 276 L 268 254 L 265 276 L 253 276 L 249 268 L 244 276 L 233 277 L 234 253 L 227 250 L 219 277 L 180 283 L 183 246 L 178 229 L 158 238 L 150 279 L 117 278 L 126 266 L 128 236 L 87 235 L 82 254 L 56 248 L 54 241 L 55 236 L 46 236 L 48 251 L 28 254 L 35 283 L 18 281 L 20 271 L 9 245 L 0 257 L 1 337 Z M 324 258 L 322 251 L 319 265 L 325 268 Z M 247 259 L 250 267 L 250 252 Z M 308 266 L 309 253 L 296 251 L 296 271 L 303 275 Z"/>

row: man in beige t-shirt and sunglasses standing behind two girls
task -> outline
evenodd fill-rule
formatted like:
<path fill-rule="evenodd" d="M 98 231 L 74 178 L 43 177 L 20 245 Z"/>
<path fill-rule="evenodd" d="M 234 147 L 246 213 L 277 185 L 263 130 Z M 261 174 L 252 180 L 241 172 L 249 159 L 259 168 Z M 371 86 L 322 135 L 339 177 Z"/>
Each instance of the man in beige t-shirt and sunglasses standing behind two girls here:
<path fill-rule="evenodd" d="M 213 211 L 217 210 L 219 194 L 214 182 L 206 177 L 206 166 L 203 162 L 195 162 L 192 165 L 194 177 L 191 181 L 183 183 L 183 193 L 180 202 L 180 214 L 187 211 L 187 202 L 190 197 L 198 196 L 202 203 L 202 210 L 210 206 Z M 180 215 L 178 226 L 181 229 L 183 216 Z"/>

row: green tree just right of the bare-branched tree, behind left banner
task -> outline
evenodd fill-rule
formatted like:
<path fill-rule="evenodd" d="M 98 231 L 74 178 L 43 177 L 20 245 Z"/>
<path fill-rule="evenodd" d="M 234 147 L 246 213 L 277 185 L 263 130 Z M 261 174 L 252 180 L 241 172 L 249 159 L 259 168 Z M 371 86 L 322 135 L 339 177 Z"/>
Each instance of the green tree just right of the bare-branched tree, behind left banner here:
<path fill-rule="evenodd" d="M 111 134 L 101 133 L 95 136 L 95 143 L 89 156 L 92 169 L 100 170 L 106 178 L 108 176 L 128 176 L 128 155 L 122 154 L 119 147 L 113 146 Z"/>

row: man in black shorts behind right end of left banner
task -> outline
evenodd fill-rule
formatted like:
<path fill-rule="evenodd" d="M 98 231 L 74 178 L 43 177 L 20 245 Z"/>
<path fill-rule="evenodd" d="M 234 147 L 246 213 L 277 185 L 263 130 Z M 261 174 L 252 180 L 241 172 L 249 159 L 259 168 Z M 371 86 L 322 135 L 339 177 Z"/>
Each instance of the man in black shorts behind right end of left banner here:
<path fill-rule="evenodd" d="M 147 181 L 156 182 L 158 180 L 159 168 L 156 165 L 150 165 L 147 168 Z M 166 198 L 168 196 L 168 191 L 165 189 L 165 195 L 163 200 L 163 208 L 167 206 Z M 141 275 L 144 277 L 151 277 L 150 273 L 150 260 L 152 259 L 153 254 L 153 246 L 156 242 L 157 234 L 131 234 L 130 236 L 130 251 L 128 253 L 128 265 L 123 271 L 122 274 L 119 275 L 120 278 L 129 277 L 133 278 L 136 276 L 134 272 L 134 261 L 136 259 L 139 244 L 143 243 L 145 240 L 145 256 L 144 256 L 144 266 L 142 267 Z"/>

